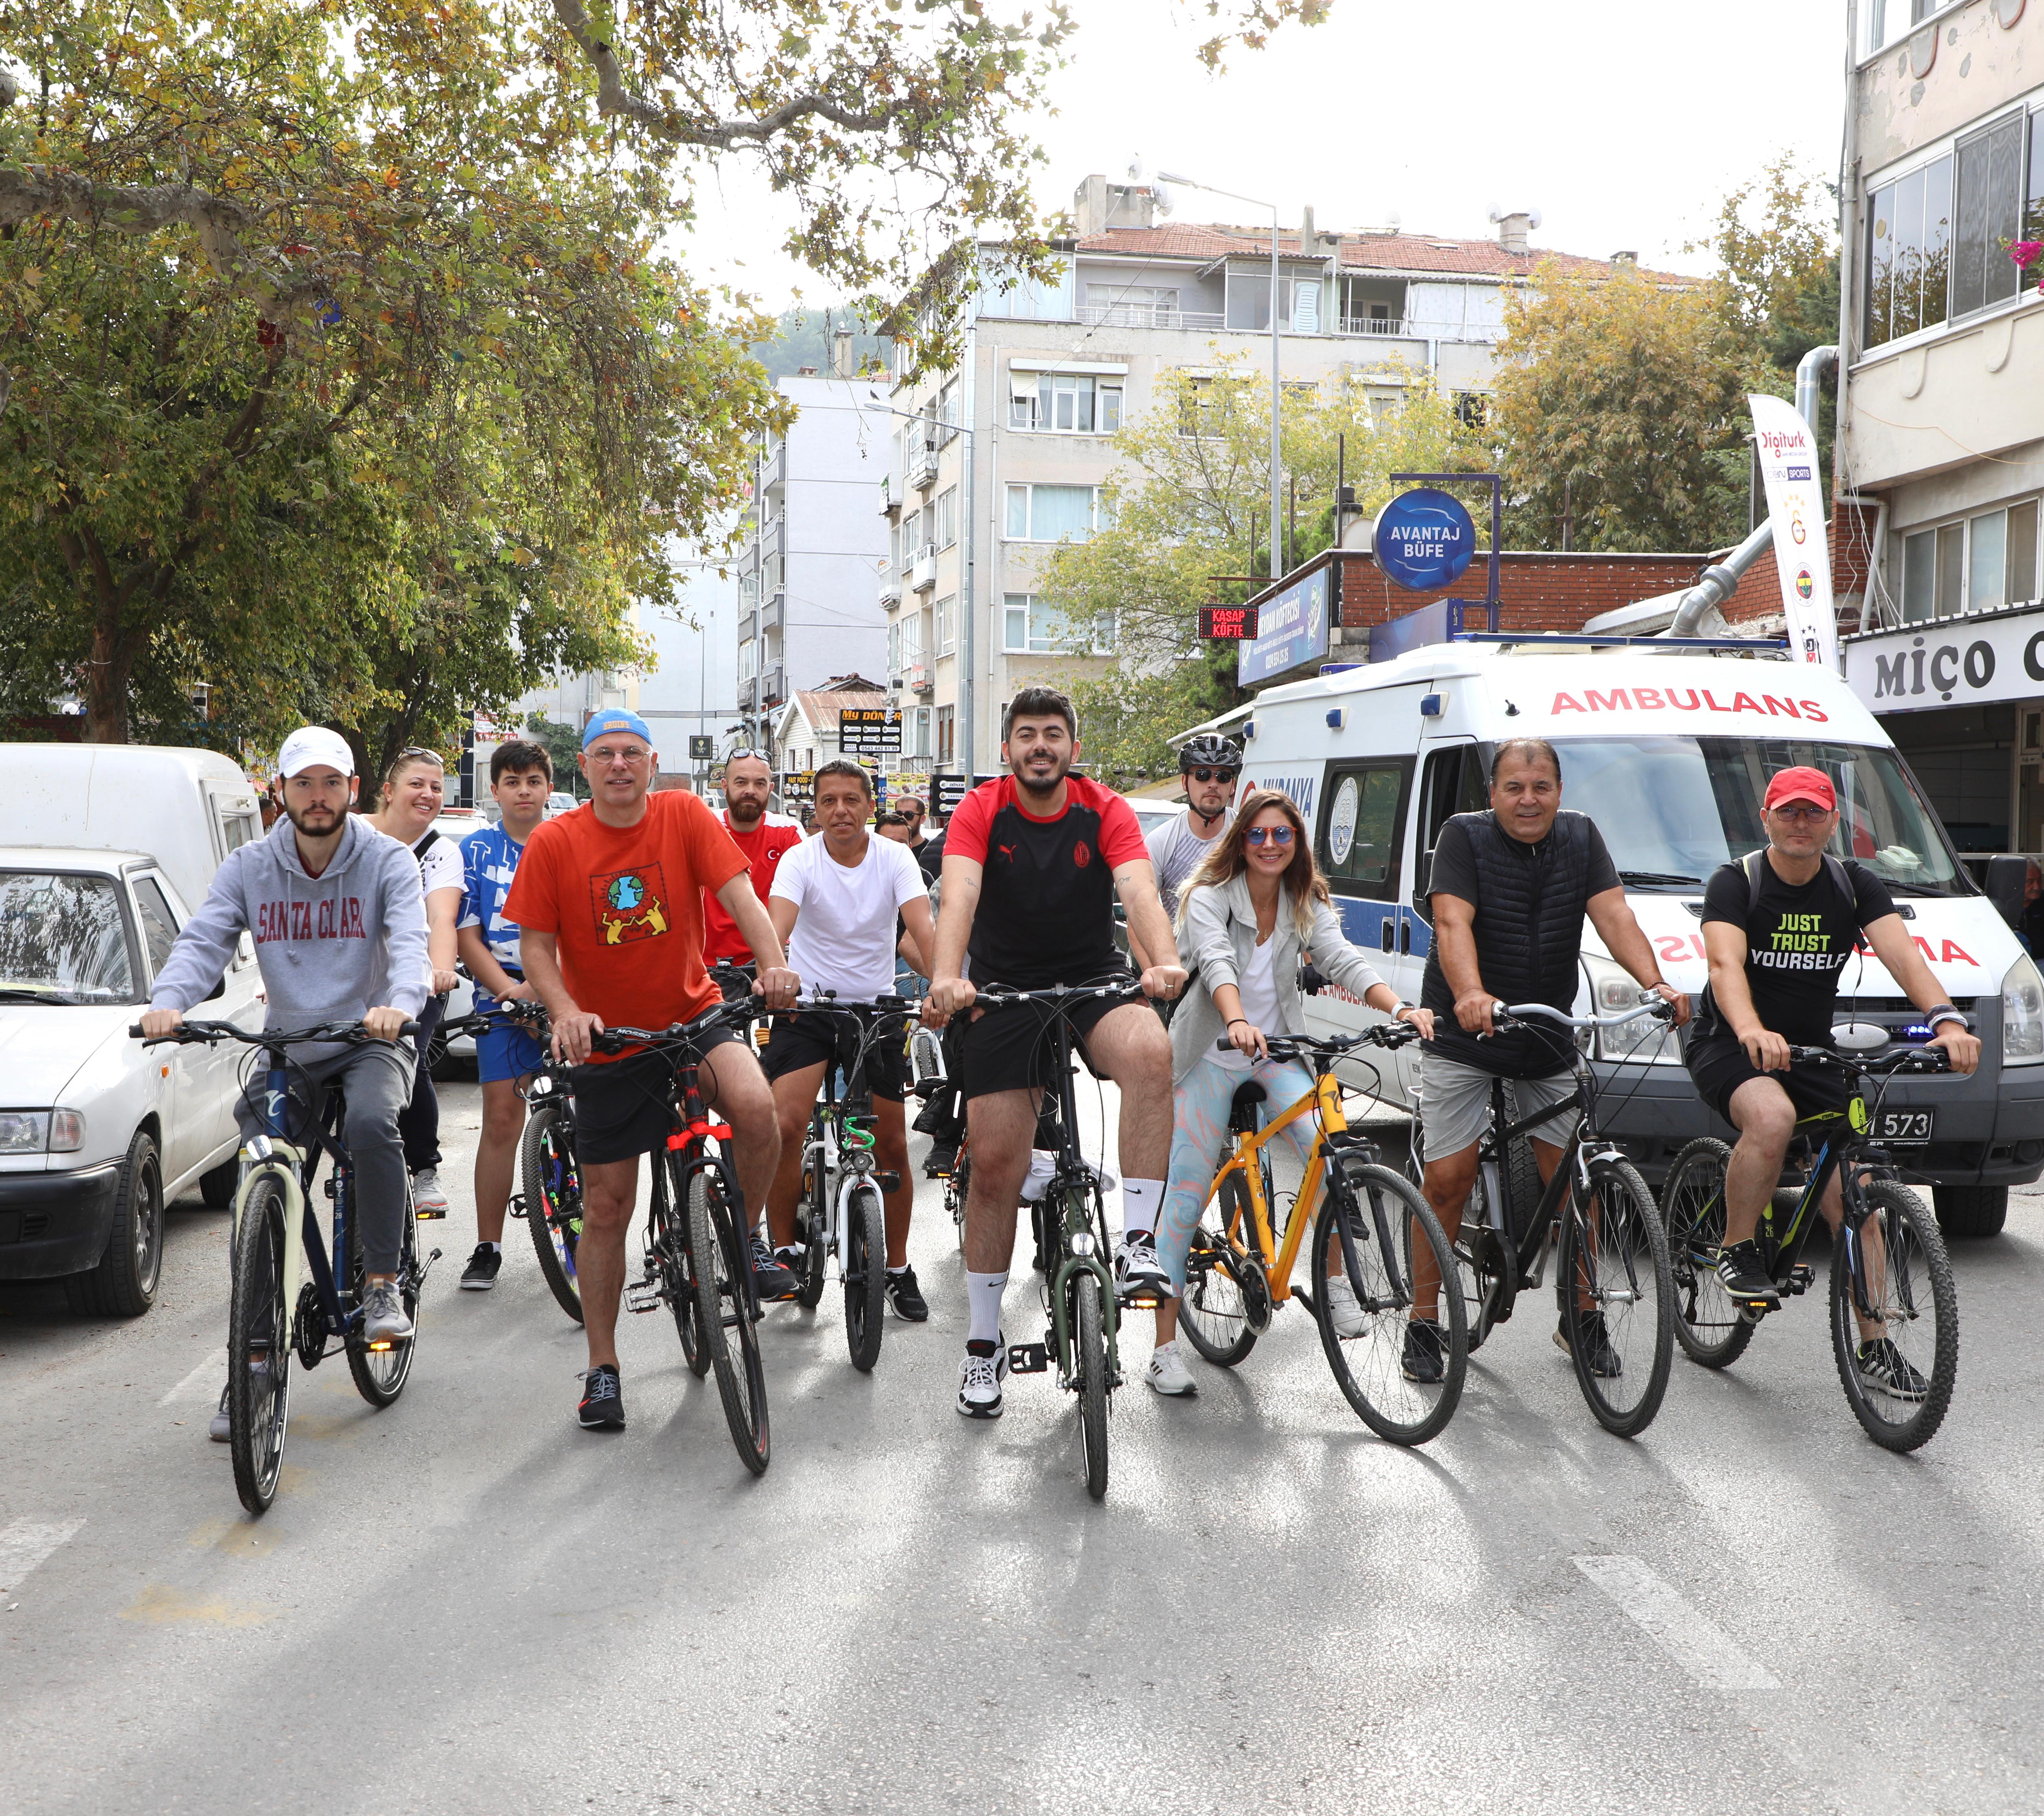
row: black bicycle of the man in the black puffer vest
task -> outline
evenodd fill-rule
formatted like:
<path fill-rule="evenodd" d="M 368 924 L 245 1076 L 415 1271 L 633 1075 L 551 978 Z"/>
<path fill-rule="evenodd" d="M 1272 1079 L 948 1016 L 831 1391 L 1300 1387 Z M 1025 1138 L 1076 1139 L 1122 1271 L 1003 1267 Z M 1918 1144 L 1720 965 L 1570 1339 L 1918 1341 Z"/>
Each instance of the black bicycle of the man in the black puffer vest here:
<path fill-rule="evenodd" d="M 1492 1025 L 1511 1032 L 1541 1019 L 1578 1032 L 1621 1028 L 1641 1015 L 1668 1019 L 1670 1013 L 1662 1001 L 1625 1015 L 1582 1017 L 1564 1015 L 1547 1003 L 1498 1003 Z M 1508 1081 L 1492 1079 L 1490 1126 L 1478 1140 L 1476 1189 L 1453 1244 L 1470 1301 L 1470 1350 L 1482 1348 L 1490 1332 L 1513 1316 L 1521 1291 L 1541 1285 L 1553 1248 L 1555 1297 L 1576 1385 L 1607 1432 L 1635 1438 L 1660 1412 L 1674 1358 L 1668 1238 L 1639 1168 L 1596 1132 L 1596 1081 L 1574 1042 L 1570 1056 L 1574 1095 L 1525 1117 L 1517 1115 Z M 1527 1211 L 1539 1173 L 1525 1138 L 1570 1109 L 1582 1115 L 1553 1177 Z M 1647 1303 L 1652 1328 L 1641 1328 Z M 1600 1318 L 1602 1346 L 1596 1342 L 1598 1328 L 1588 1324 L 1592 1313 Z"/>

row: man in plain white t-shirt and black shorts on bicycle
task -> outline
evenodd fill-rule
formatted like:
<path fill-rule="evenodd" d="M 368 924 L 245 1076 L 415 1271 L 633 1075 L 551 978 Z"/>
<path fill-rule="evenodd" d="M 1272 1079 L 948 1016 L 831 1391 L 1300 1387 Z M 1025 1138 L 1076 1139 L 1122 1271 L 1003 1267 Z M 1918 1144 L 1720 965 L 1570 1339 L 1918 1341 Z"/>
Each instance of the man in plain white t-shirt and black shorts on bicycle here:
<path fill-rule="evenodd" d="M 816 829 L 781 858 L 766 897 L 766 913 L 789 952 L 803 987 L 816 993 L 871 1001 L 895 989 L 895 915 L 922 952 L 928 976 L 932 956 L 930 897 L 914 852 L 867 831 L 873 815 L 873 778 L 854 762 L 834 758 L 816 770 Z M 867 1017 L 871 1019 L 871 1017 Z M 781 1115 L 781 1168 L 766 1195 L 766 1228 L 775 1258 L 801 1273 L 795 1248 L 795 1199 L 801 1195 L 801 1150 L 809 1111 L 826 1066 L 846 1077 L 858 1054 L 858 1025 L 842 1013 L 777 1013 L 760 1064 L 773 1079 Z M 908 1170 L 908 1056 L 901 1040 L 881 1040 L 867 1052 L 867 1089 L 873 1093 L 873 1150 L 881 1173 L 899 1181 L 885 1193 L 887 1297 L 895 1313 L 922 1324 L 930 1307 L 908 1264 L 908 1220 L 914 1185 Z"/>

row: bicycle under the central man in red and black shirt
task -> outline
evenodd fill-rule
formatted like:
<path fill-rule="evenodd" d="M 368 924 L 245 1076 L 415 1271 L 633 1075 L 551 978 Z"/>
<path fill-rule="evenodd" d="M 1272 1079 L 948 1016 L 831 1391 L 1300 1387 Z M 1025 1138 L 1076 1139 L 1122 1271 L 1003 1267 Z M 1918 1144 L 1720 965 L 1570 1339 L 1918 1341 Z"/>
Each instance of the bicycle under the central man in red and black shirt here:
<path fill-rule="evenodd" d="M 1065 1009 L 1087 1001 L 1141 1001 L 1134 983 L 1053 985 L 1044 991 L 1010 991 L 989 985 L 979 991 L 977 1007 L 989 1013 L 1024 1003 L 1049 1003 L 1053 1013 L 1044 1038 L 1053 1046 L 1057 1074 L 1059 1134 L 1057 1168 L 1042 1195 L 1044 1234 L 1055 1248 L 1047 1260 L 1042 1295 L 1049 1320 L 1042 1342 L 1010 1344 L 1008 1371 L 1014 1375 L 1049 1373 L 1057 1365 L 1057 1385 L 1079 1397 L 1079 1450 L 1085 1467 L 1085 1491 L 1096 1499 L 1108 1493 L 1108 1399 L 1122 1385 L 1116 1340 L 1120 1307 L 1114 1295 L 1114 1275 L 1108 1260 L 1114 1240 L 1108 1234 L 1108 1207 L 1100 1177 L 1079 1154 L 1079 1107 L 1071 1081 L 1071 1023 Z"/>

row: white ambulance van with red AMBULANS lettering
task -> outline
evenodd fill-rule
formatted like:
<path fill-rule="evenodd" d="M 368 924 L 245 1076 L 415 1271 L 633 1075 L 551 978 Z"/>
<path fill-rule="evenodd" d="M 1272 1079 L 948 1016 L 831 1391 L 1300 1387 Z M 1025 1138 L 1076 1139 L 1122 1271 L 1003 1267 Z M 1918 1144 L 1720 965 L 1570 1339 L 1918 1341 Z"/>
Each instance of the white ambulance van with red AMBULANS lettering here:
<path fill-rule="evenodd" d="M 1703 885 L 1766 844 L 1766 778 L 1825 770 L 1844 807 L 1842 856 L 1895 891 L 1917 948 L 1985 1044 L 1970 1079 L 1905 1079 L 1887 1095 L 1897 1158 L 1936 1187 L 1954 1230 L 1999 1228 L 2007 1187 L 2044 1170 L 2044 978 L 1975 887 L 1878 721 L 1846 684 L 1770 646 L 1625 646 L 1580 637 L 1468 639 L 1392 662 L 1331 668 L 1273 686 L 1202 731 L 1243 739 L 1243 788 L 1282 788 L 1314 829 L 1347 936 L 1416 999 L 1429 925 L 1427 872 L 1441 823 L 1488 807 L 1490 752 L 1547 737 L 1562 805 L 1588 813 L 1627 899 L 1684 991 L 1705 985 Z M 1923 1040 L 1915 1011 L 1870 952 L 1846 966 L 1856 1019 Z M 1582 995 L 1600 1013 L 1637 987 L 1584 925 Z M 1335 993 L 1312 999 L 1335 1030 L 1376 1021 Z M 1635 1023 L 1594 1052 L 1602 1128 L 1658 1179 L 1692 1136 L 1731 1130 L 1688 1083 L 1672 1032 Z M 1380 1056 L 1388 1095 L 1408 1101 L 1410 1050 Z"/>

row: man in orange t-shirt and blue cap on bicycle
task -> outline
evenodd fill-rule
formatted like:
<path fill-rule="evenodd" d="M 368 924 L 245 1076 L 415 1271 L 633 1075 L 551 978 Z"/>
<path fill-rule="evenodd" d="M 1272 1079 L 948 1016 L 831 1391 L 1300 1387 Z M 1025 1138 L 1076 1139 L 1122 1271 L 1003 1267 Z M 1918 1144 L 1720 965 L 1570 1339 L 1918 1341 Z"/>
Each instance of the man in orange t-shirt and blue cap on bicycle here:
<path fill-rule="evenodd" d="M 652 793 L 652 733 L 638 713 L 599 711 L 583 729 L 591 801 L 544 821 L 525 842 L 505 919 L 519 927 L 525 981 L 554 1023 L 554 1052 L 574 1064 L 574 1146 L 583 1179 L 583 1236 L 574 1252 L 589 1332 L 580 1422 L 625 1422 L 617 1383 L 617 1297 L 625 1234 L 638 1199 L 638 1156 L 664 1146 L 675 1058 L 591 1050 L 607 1025 L 666 1028 L 715 1007 L 703 970 L 703 891 L 724 903 L 758 960 L 769 1007 L 795 1001 L 752 872 L 717 817 L 695 797 Z M 703 1097 L 732 1126 L 732 1158 L 748 1215 L 758 1215 L 781 1160 L 773 1091 L 752 1046 L 728 1028 L 697 1044 Z M 754 1238 L 758 1242 L 758 1238 Z M 764 1244 L 758 1244 L 764 1250 Z M 754 1254 L 762 1299 L 793 1289 L 787 1269 Z"/>

